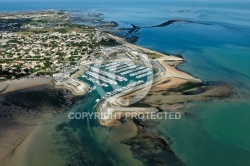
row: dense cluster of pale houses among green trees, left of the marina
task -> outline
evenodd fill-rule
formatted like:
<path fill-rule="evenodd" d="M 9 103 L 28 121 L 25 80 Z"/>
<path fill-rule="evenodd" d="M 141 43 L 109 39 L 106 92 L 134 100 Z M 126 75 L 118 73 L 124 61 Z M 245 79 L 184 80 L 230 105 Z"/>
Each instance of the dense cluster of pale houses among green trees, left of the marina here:
<path fill-rule="evenodd" d="M 93 49 L 92 42 L 94 39 L 87 33 L 0 32 L 0 70 L 9 75 L 61 71 L 86 58 Z"/>

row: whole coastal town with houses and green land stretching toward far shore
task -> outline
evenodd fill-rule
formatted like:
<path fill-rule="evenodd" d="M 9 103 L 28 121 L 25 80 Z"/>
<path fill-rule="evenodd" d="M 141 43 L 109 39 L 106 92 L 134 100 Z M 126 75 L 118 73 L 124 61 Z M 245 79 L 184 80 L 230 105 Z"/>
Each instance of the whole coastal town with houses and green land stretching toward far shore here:
<path fill-rule="evenodd" d="M 0 31 L 0 80 L 26 76 L 49 77 L 62 70 L 72 72 L 77 69 L 80 61 L 96 59 L 89 55 L 94 56 L 91 53 L 100 46 L 119 44 L 108 36 L 99 37 L 100 33 L 95 28 L 73 25 L 63 19 L 58 22 L 58 19 L 66 18 L 65 14 L 45 12 L 1 15 L 2 27 L 6 25 L 3 20 L 9 19 L 19 24 L 21 19 L 22 24 L 18 30 L 13 30 L 17 23 L 9 23 L 11 30 Z M 26 23 L 31 18 L 33 20 Z"/>

